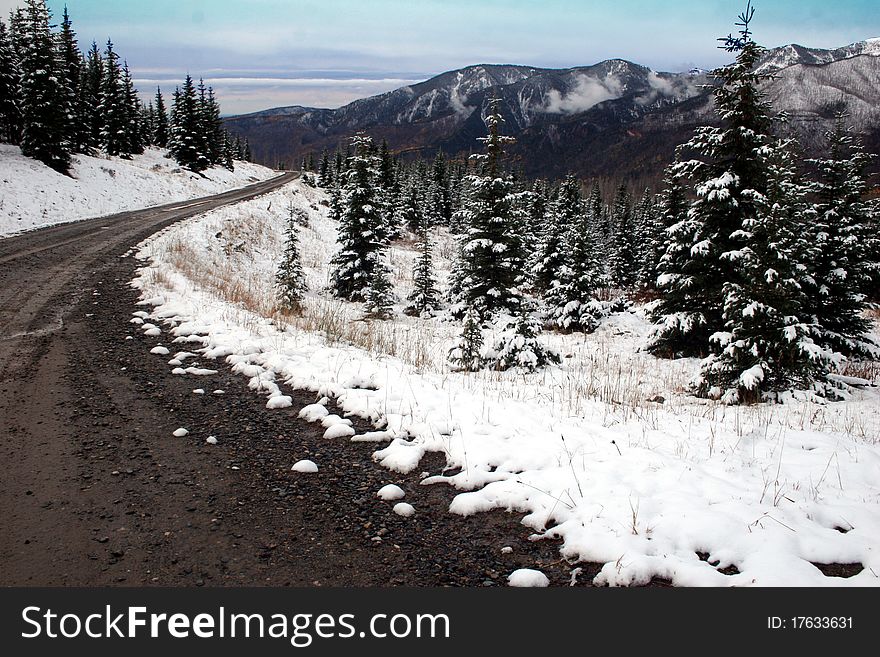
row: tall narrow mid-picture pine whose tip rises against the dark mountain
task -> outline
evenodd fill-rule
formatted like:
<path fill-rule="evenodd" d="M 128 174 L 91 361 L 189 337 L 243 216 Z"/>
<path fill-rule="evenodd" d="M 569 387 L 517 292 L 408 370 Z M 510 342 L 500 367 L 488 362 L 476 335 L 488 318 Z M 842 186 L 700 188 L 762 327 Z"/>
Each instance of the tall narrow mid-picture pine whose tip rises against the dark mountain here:
<path fill-rule="evenodd" d="M 522 296 L 523 222 L 514 210 L 513 181 L 501 166 L 504 146 L 514 140 L 501 135 L 499 107 L 500 101 L 493 99 L 486 117 L 489 134 L 480 138 L 486 153 L 476 156 L 481 170 L 469 178 L 465 226 L 450 286 L 457 302 L 489 314 L 516 313 Z"/>

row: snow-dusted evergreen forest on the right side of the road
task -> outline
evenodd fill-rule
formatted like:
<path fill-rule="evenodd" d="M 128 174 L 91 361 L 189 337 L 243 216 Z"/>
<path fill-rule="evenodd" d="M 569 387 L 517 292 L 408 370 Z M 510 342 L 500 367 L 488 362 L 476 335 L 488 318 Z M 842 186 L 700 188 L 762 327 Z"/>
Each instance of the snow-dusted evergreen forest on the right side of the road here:
<path fill-rule="evenodd" d="M 641 295 L 655 298 L 649 351 L 703 359 L 696 394 L 727 403 L 845 394 L 859 382 L 842 365 L 880 356 L 867 318 L 880 287 L 871 156 L 843 113 L 824 158 L 803 161 L 796 142 L 776 136 L 780 118 L 754 72 L 763 49 L 753 11 L 723 40 L 736 61 L 714 72 L 721 127 L 680 147 L 656 195 L 622 186 L 605 200 L 574 177 L 527 184 L 505 165 L 513 140 L 494 104 L 484 152 L 467 162 L 397 162 L 364 135 L 347 152 L 307 158 L 305 180 L 329 190 L 339 221 L 333 293 L 389 316 L 386 253 L 409 232 L 420 256 L 406 311 L 463 319 L 449 355 L 458 369 L 555 362 L 542 329 L 590 332 Z M 437 227 L 457 243 L 446 299 L 432 260 Z M 501 337 L 486 345 L 490 324 Z"/>

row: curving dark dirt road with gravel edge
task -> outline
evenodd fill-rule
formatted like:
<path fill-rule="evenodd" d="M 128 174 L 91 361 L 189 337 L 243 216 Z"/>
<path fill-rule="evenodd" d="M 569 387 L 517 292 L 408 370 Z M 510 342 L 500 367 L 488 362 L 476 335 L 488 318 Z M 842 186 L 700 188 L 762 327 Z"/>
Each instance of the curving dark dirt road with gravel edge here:
<path fill-rule="evenodd" d="M 297 420 L 311 397 L 266 411 L 222 363 L 173 376 L 129 324 L 132 247 L 292 177 L 0 240 L 0 585 L 487 586 L 519 567 L 568 583 L 558 546 L 528 541 L 518 515 L 453 517 L 452 491 Z M 320 472 L 292 473 L 300 458 Z M 415 517 L 376 499 L 391 482 Z"/>

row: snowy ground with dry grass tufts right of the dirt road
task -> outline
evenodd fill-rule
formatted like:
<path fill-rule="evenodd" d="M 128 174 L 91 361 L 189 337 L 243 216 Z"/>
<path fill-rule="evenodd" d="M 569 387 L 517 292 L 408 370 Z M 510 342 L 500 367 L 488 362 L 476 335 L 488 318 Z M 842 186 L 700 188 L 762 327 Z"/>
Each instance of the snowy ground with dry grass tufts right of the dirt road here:
<path fill-rule="evenodd" d="M 450 372 L 456 324 L 363 321 L 359 306 L 320 292 L 335 241 L 323 201 L 295 183 L 141 246 L 146 266 L 135 284 L 152 308 L 133 321 L 151 335 L 159 328 L 156 344 L 172 354 L 194 354 L 169 367 L 205 387 L 199 369 L 225 359 L 269 408 L 290 404 L 286 385 L 313 390 L 319 405 L 303 415 L 328 438 L 376 441 L 374 458 L 392 470 L 419 472 L 426 451 L 444 452 L 461 472 L 424 483 L 460 489 L 453 513 L 520 512 L 535 540 L 560 538 L 565 557 L 605 564 L 599 584 L 654 576 L 686 586 L 880 584 L 876 388 L 828 405 L 698 400 L 684 392 L 697 361 L 639 351 L 650 330 L 639 311 L 589 336 L 544 334 L 565 356 L 560 367 Z M 271 303 L 289 203 L 309 222 L 300 235 L 313 292 L 301 318 L 279 316 Z M 451 242 L 439 239 L 448 267 Z M 401 296 L 414 256 L 407 245 L 391 254 Z M 320 407 L 327 398 L 377 431 L 351 436 Z M 292 449 L 291 464 L 299 458 Z M 837 578 L 814 565 L 828 563 L 864 568 Z M 540 578 L 512 583 L 525 579 Z"/>

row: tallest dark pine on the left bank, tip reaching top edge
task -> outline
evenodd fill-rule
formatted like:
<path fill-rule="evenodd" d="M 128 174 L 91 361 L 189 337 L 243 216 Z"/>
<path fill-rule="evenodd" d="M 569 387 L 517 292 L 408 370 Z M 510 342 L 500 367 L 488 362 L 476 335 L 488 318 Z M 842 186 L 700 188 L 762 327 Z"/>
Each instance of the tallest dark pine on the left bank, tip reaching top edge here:
<path fill-rule="evenodd" d="M 26 0 L 19 57 L 21 152 L 60 173 L 70 168 L 70 90 L 44 0 Z"/>

